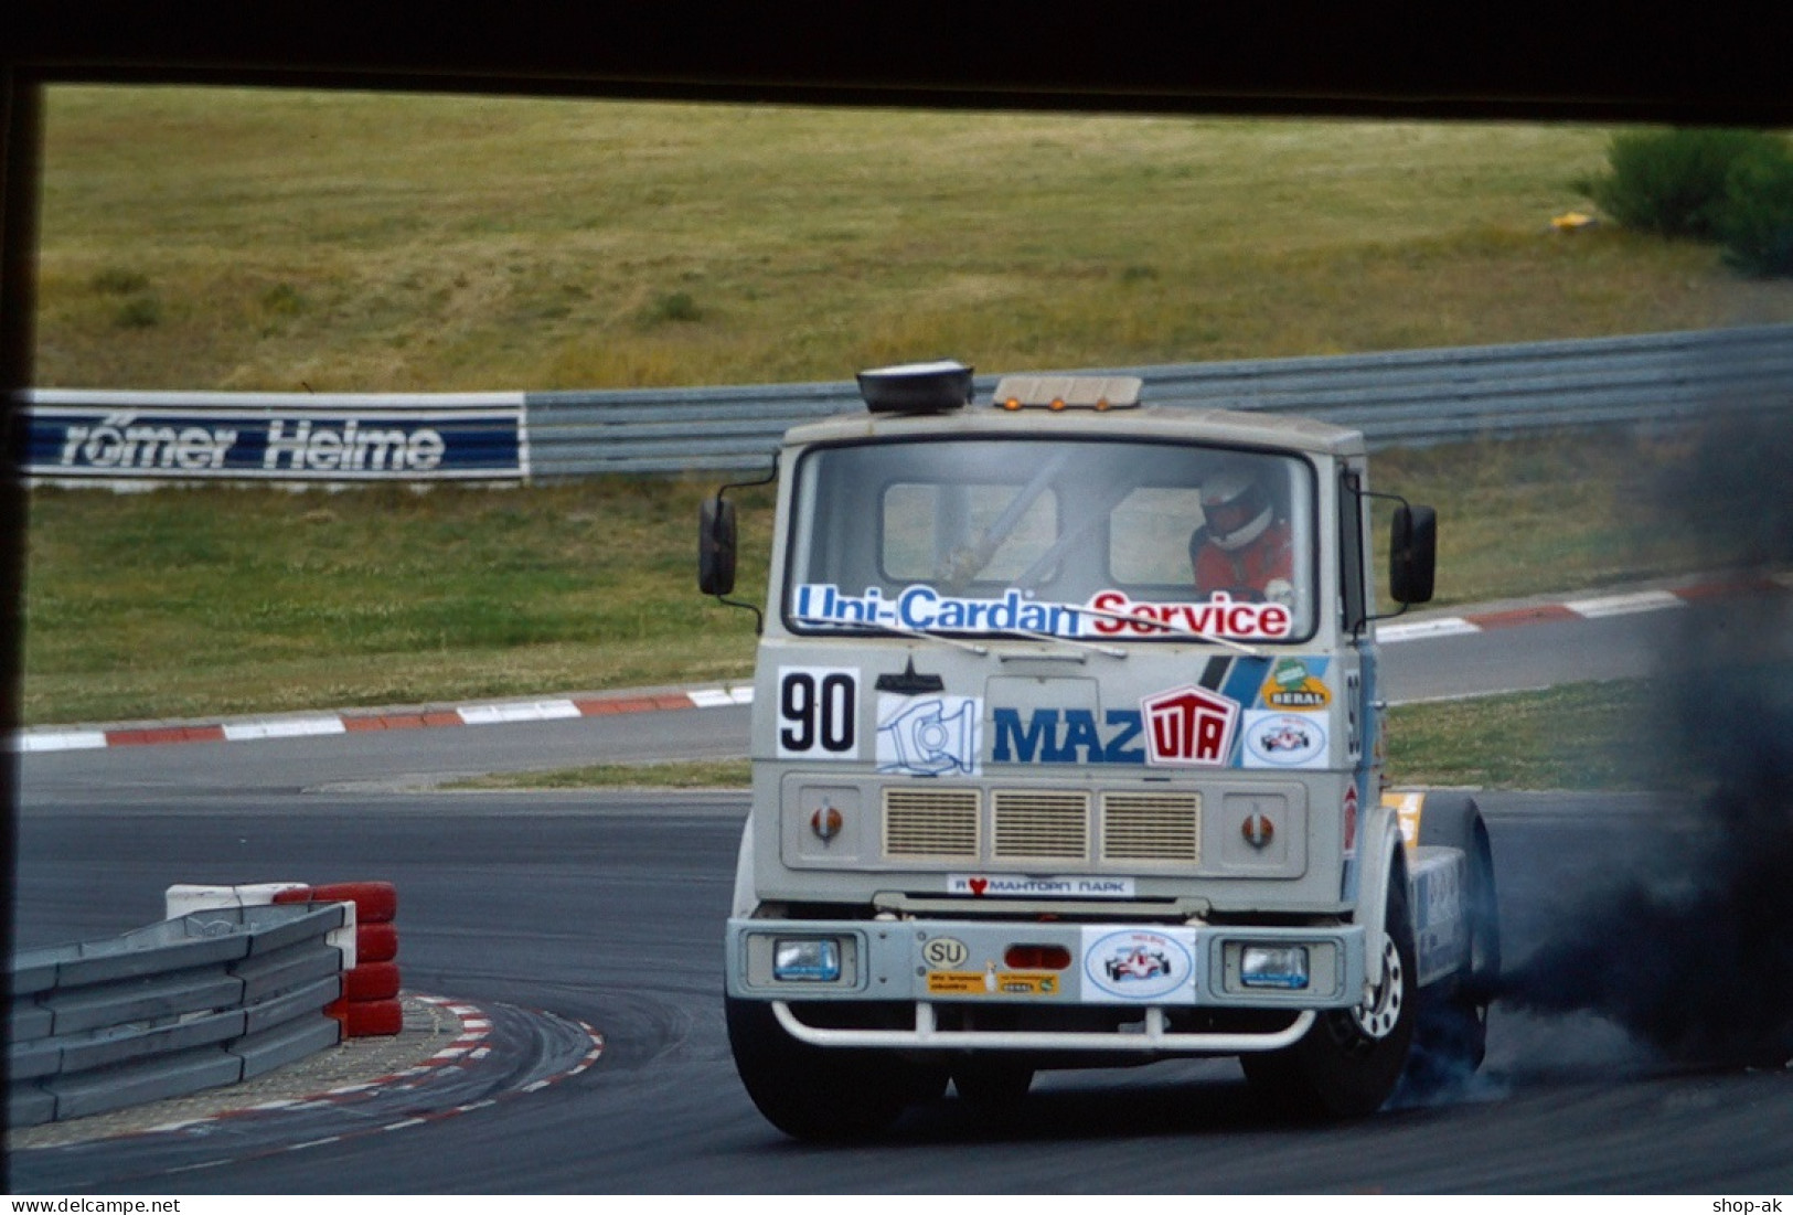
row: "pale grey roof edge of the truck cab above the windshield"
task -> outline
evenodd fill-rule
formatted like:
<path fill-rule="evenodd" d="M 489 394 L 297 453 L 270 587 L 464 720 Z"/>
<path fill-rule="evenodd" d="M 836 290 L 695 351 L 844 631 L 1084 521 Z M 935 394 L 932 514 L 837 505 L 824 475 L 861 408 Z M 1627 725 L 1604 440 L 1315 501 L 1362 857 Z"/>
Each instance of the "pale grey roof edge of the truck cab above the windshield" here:
<path fill-rule="evenodd" d="M 1363 432 L 1312 418 L 1182 405 L 1142 405 L 1101 412 L 1090 409 L 1006 410 L 993 405 L 968 405 L 936 414 L 837 414 L 793 427 L 785 434 L 785 446 L 927 435 L 1200 441 L 1316 455 L 1361 455 L 1366 450 Z"/>

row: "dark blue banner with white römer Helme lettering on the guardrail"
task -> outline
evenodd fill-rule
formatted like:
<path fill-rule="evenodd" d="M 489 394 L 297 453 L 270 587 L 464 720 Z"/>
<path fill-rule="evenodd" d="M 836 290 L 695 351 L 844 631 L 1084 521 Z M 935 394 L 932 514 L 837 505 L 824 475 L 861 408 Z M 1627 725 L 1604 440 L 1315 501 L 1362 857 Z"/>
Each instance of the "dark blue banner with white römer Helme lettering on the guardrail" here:
<path fill-rule="evenodd" d="M 34 403 L 27 430 L 27 477 L 522 480 L 529 475 L 520 401 L 366 410 Z"/>

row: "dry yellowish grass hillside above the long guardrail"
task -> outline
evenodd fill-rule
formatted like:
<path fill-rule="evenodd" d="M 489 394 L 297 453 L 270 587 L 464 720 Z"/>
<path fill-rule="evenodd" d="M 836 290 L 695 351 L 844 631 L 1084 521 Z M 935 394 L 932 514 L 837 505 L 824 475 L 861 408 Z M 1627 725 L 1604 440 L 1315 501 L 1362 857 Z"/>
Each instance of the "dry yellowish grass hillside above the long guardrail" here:
<path fill-rule="evenodd" d="M 744 383 L 1793 319 L 1709 247 L 1553 233 L 1607 136 L 59 86 L 39 382 Z"/>

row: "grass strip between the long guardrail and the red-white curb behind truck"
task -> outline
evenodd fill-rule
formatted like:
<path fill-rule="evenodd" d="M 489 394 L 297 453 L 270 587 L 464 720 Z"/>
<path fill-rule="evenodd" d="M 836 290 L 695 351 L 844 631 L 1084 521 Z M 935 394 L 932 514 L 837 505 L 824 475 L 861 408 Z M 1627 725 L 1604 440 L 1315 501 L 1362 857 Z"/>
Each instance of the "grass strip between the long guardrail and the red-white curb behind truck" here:
<path fill-rule="evenodd" d="M 1727 554 L 1653 505 L 1673 444 L 1388 452 L 1440 509 L 1438 606 L 1687 573 Z M 32 495 L 27 722 L 420 704 L 742 677 L 753 622 L 696 590 L 712 482 Z M 764 595 L 766 489 L 741 595 Z"/>

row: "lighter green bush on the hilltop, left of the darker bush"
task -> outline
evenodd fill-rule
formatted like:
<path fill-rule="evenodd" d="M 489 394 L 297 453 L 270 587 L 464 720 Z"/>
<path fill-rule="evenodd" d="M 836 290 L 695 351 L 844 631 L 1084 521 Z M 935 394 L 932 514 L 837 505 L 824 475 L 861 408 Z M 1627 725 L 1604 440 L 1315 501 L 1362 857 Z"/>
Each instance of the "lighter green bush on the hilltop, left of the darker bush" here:
<path fill-rule="evenodd" d="M 1730 170 L 1743 159 L 1786 154 L 1764 131 L 1628 131 L 1612 136 L 1612 172 L 1585 186 L 1607 215 L 1664 237 L 1716 238 Z"/>

